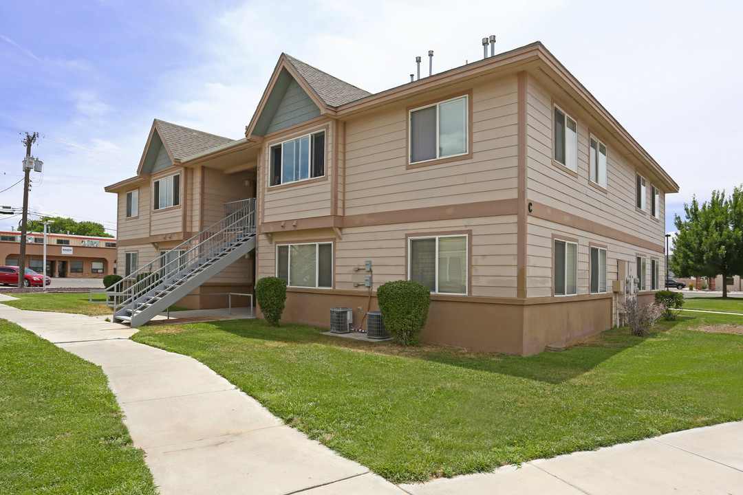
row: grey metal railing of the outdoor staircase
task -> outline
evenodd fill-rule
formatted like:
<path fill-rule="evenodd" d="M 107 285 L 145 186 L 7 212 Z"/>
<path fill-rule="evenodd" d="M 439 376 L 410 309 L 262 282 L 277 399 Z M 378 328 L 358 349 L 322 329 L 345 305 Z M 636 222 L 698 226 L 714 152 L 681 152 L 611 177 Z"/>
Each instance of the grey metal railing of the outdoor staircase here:
<path fill-rule="evenodd" d="M 232 213 L 108 289 L 106 303 L 114 308 L 114 318 L 121 309 L 129 309 L 134 315 L 149 297 L 192 278 L 255 234 L 256 198 L 225 204 L 230 205 Z M 175 255 L 177 252 L 180 254 Z"/>

